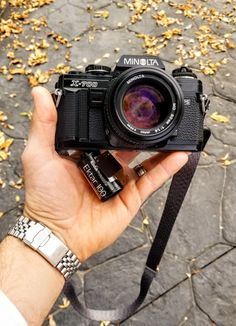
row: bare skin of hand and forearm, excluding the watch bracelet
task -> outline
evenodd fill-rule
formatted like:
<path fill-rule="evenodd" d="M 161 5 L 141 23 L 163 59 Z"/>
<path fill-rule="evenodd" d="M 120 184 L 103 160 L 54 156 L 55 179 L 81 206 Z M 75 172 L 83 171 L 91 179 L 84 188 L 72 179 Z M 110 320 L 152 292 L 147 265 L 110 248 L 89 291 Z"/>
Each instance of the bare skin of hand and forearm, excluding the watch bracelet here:
<path fill-rule="evenodd" d="M 102 203 L 76 163 L 54 149 L 57 113 L 50 93 L 36 87 L 32 94 L 34 112 L 22 155 L 24 214 L 48 226 L 83 262 L 119 237 L 142 203 L 187 162 L 188 155 L 156 154 L 143 162 L 147 173 L 138 178 L 128 167 L 135 154 L 116 153 L 129 181 L 122 192 Z M 60 294 L 64 278 L 39 254 L 10 236 L 0 245 L 0 271 L 0 289 L 29 325 L 40 325 Z"/>

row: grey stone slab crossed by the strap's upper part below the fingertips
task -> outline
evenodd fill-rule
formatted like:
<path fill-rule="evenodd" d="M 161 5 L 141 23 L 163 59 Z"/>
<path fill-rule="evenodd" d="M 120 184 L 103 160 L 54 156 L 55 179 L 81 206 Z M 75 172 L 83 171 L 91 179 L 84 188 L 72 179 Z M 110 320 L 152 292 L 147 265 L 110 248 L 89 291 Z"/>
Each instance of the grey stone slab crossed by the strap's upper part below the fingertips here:
<path fill-rule="evenodd" d="M 207 185 L 213 181 L 212 174 L 214 186 L 209 191 Z M 221 167 L 209 166 L 197 170 L 173 228 L 167 252 L 183 258 L 193 258 L 205 248 L 219 242 L 219 208 L 223 179 Z M 162 197 L 157 193 L 145 207 L 153 234 L 159 218 L 158 205 L 162 202 Z"/>

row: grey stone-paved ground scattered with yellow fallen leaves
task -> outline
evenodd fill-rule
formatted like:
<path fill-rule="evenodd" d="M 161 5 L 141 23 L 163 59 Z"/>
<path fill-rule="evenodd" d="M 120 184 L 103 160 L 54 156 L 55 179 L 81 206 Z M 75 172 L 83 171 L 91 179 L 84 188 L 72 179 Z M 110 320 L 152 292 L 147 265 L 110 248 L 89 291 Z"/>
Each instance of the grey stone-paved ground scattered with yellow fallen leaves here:
<path fill-rule="evenodd" d="M 27 138 L 28 111 L 32 109 L 30 83 L 47 82 L 46 87 L 53 89 L 55 73 L 66 71 L 68 66 L 82 69 L 93 62 L 113 66 L 121 54 L 160 51 L 167 71 L 186 62 L 203 80 L 211 98 L 206 124 L 212 137 L 202 154 L 151 291 L 139 311 L 122 325 L 234 326 L 236 3 L 196 0 L 194 5 L 191 1 L 183 1 L 182 5 L 168 1 L 150 4 L 153 6 L 149 10 L 142 7 L 141 1 L 135 7 L 134 3 L 111 0 L 57 0 L 29 12 L 29 18 L 21 17 L 15 30 L 22 26 L 24 32 L 14 32 L 14 26 L 8 35 L 6 29 L 1 30 L 0 111 L 4 113 L 0 115 L 0 128 L 4 134 L 0 152 L 0 240 L 20 214 L 24 201 L 20 154 Z M 1 5 L 3 19 L 9 18 L 11 11 L 22 12 L 20 7 L 6 7 L 4 1 Z M 153 15 L 157 15 L 155 19 Z M 22 25 L 27 19 L 34 20 Z M 25 44 L 14 48 L 12 42 L 17 37 Z M 38 46 L 36 43 L 43 39 L 48 45 Z M 31 48 L 26 50 L 29 44 Z M 35 56 L 29 59 L 31 54 Z M 36 65 L 39 63 L 42 65 Z M 215 112 L 218 114 L 212 116 Z M 3 137 L 4 141 L 14 141 L 4 147 Z M 112 247 L 84 264 L 77 276 L 78 293 L 84 293 L 89 305 L 114 307 L 129 303 L 137 295 L 167 189 L 168 184 L 146 202 Z M 62 300 L 54 306 L 45 326 L 55 325 L 53 322 L 58 326 L 99 325 L 78 316 Z"/>

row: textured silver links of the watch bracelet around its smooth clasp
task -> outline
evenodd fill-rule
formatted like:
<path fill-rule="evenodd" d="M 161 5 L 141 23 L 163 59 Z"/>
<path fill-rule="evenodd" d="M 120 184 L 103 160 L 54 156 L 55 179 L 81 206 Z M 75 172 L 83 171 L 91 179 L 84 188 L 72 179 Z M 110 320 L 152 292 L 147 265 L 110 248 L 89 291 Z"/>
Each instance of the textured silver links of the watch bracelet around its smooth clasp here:
<path fill-rule="evenodd" d="M 28 245 L 30 248 L 34 249 L 37 251 L 41 256 L 43 256 L 52 266 L 56 267 L 57 270 L 64 276 L 65 280 L 68 280 L 75 272 L 78 271 L 79 266 L 81 265 L 81 262 L 77 258 L 73 252 L 67 248 L 67 252 L 64 254 L 64 256 L 60 259 L 60 261 L 54 265 L 47 257 L 45 257 L 39 250 L 35 249 L 32 247 L 28 242 L 24 241 L 24 238 L 26 237 L 27 231 L 32 227 L 35 226 L 36 224 L 41 225 L 42 227 L 45 227 L 48 229 L 45 225 L 42 223 L 30 220 L 28 217 L 21 216 L 16 224 L 10 228 L 8 235 L 14 236 L 20 240 L 22 240 L 26 245 Z M 49 230 L 49 229 L 48 229 Z M 50 230 L 50 234 L 56 237 L 55 234 L 52 233 Z M 57 238 L 57 237 L 56 237 Z M 63 243 L 59 238 L 57 238 L 57 241 L 60 241 Z M 65 244 L 63 243 L 65 246 Z M 66 247 L 66 246 L 65 246 Z"/>

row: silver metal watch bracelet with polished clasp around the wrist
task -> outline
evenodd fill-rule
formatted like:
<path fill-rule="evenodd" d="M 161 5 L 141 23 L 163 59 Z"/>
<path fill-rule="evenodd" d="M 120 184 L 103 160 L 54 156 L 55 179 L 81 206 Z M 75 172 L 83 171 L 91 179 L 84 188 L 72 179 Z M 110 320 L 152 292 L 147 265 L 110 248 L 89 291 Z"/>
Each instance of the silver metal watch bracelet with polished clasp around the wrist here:
<path fill-rule="evenodd" d="M 21 216 L 8 235 L 21 239 L 69 279 L 81 265 L 79 259 L 45 225 Z"/>

